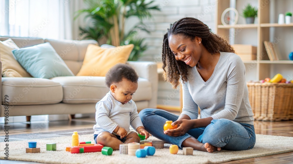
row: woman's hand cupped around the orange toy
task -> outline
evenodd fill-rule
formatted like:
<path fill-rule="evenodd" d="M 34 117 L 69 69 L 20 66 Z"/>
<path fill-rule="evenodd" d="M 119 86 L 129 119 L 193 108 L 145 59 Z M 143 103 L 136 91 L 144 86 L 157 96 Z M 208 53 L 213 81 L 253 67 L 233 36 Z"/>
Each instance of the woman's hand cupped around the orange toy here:
<path fill-rule="evenodd" d="M 172 130 L 166 130 L 164 131 L 164 134 L 177 137 L 180 135 L 184 135 L 191 128 L 193 128 L 192 120 L 187 120 L 187 119 L 177 120 L 177 121 L 174 121 L 171 125 L 174 126 L 176 124 L 178 125 L 178 128 L 172 129 Z"/>

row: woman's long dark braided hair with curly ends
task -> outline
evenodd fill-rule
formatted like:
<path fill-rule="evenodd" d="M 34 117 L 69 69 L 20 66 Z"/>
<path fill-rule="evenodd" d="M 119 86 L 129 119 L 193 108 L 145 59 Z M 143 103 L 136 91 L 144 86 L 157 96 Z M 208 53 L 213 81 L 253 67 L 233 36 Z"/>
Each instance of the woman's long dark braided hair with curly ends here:
<path fill-rule="evenodd" d="M 173 88 L 179 85 L 179 77 L 183 82 L 187 81 L 187 68 L 190 67 L 186 65 L 183 61 L 177 61 L 174 57 L 173 52 L 169 47 L 168 37 L 171 35 L 181 35 L 190 40 L 194 40 L 197 36 L 202 39 L 202 44 L 205 48 L 212 54 L 217 52 L 233 52 L 233 48 L 228 44 L 228 42 L 216 34 L 212 33 L 211 29 L 198 19 L 192 17 L 185 17 L 174 24 L 170 24 L 170 29 L 164 35 L 163 39 L 163 50 L 162 50 L 162 61 L 164 79 L 170 82 Z M 167 66 L 167 71 L 165 67 Z"/>

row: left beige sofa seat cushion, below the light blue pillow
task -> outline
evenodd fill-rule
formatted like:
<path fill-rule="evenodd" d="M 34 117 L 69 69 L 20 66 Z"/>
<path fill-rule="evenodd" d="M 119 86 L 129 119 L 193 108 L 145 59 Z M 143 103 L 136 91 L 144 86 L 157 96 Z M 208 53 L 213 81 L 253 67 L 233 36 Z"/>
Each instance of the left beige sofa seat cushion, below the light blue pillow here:
<path fill-rule="evenodd" d="M 5 95 L 9 105 L 44 105 L 60 103 L 63 91 L 61 84 L 49 79 L 3 77 L 2 104 L 5 103 Z"/>

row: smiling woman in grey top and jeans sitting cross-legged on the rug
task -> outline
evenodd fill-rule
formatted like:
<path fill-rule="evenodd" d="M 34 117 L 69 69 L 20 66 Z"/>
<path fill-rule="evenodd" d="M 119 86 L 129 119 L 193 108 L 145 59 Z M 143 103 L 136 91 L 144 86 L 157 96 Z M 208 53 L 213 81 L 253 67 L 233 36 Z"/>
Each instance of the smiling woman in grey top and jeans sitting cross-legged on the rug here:
<path fill-rule="evenodd" d="M 142 110 L 139 116 L 149 133 L 180 148 L 200 151 L 254 147 L 245 66 L 225 40 L 200 20 L 182 18 L 164 35 L 162 60 L 165 79 L 173 88 L 181 77 L 183 109 L 180 116 L 159 109 Z M 178 128 L 164 131 L 167 120 Z"/>

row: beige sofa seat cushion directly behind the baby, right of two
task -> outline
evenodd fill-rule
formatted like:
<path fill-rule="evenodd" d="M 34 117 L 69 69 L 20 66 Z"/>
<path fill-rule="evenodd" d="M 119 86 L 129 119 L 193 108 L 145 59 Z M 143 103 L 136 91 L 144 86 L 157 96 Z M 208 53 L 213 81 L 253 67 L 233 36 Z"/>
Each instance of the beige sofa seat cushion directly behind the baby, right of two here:
<path fill-rule="evenodd" d="M 101 76 L 53 77 L 51 80 L 62 84 L 63 103 L 67 104 L 97 103 L 109 92 L 105 77 Z M 150 100 L 151 83 L 139 78 L 138 86 L 132 100 Z"/>

